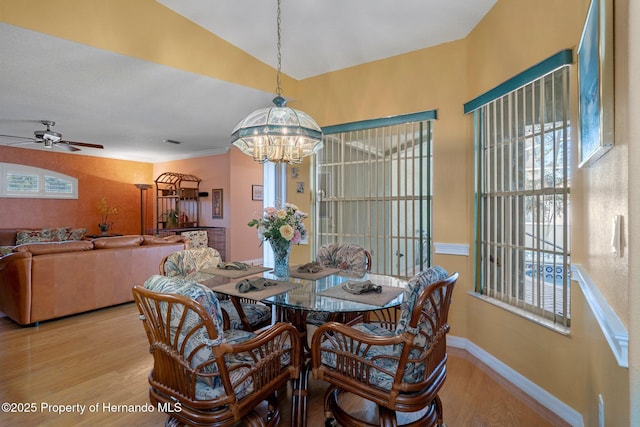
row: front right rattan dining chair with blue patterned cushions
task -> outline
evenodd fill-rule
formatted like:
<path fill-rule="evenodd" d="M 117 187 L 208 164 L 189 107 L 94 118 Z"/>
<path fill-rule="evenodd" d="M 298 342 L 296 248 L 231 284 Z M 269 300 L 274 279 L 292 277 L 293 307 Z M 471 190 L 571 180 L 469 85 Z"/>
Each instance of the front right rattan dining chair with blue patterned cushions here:
<path fill-rule="evenodd" d="M 409 280 L 400 316 L 391 326 L 368 322 L 320 326 L 311 343 L 314 378 L 329 383 L 325 412 L 341 425 L 442 425 L 438 391 L 447 376 L 447 321 L 458 274 L 431 267 Z M 373 402 L 378 423 L 341 406 L 351 393 Z M 397 415 L 405 413 L 400 417 Z M 398 419 L 400 418 L 400 420 Z"/>

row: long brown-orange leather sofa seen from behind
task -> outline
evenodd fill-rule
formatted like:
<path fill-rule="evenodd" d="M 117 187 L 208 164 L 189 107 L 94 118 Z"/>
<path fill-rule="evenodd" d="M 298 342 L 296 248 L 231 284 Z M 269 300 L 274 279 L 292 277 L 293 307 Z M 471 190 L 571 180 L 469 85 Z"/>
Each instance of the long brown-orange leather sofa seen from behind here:
<path fill-rule="evenodd" d="M 0 258 L 0 312 L 29 325 L 133 301 L 133 286 L 182 249 L 179 236 L 139 235 L 18 245 Z"/>

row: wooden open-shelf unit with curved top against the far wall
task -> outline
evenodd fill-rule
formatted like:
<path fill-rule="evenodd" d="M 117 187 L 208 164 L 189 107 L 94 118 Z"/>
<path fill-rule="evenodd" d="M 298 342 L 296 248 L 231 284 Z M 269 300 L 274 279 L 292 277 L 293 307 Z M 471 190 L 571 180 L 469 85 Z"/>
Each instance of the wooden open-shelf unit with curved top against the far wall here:
<path fill-rule="evenodd" d="M 198 227 L 200 178 L 164 172 L 156 180 L 157 229 Z"/>

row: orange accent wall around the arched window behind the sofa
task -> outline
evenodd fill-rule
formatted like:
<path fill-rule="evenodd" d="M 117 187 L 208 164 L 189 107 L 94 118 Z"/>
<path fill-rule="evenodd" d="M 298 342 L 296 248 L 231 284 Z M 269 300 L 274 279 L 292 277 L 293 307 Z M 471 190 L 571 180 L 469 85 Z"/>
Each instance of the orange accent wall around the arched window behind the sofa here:
<path fill-rule="evenodd" d="M 140 190 L 134 184 L 153 182 L 151 163 L 7 146 L 0 146 L 0 162 L 49 169 L 78 179 L 77 200 L 0 198 L 0 228 L 71 226 L 86 227 L 89 234 L 96 234 L 97 206 L 104 196 L 119 211 L 112 231 L 140 232 Z"/>

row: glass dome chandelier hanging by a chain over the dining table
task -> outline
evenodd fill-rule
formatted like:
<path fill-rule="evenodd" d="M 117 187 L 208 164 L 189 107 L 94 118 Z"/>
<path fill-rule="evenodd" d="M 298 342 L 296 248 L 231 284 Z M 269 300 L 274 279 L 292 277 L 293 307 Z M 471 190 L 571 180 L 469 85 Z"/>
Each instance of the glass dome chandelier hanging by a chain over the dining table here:
<path fill-rule="evenodd" d="M 249 114 L 231 133 L 231 143 L 260 163 L 300 164 L 306 156 L 322 148 L 322 130 L 309 116 L 286 106 L 280 87 L 280 0 L 278 0 L 278 73 L 275 107 L 261 108 Z"/>

